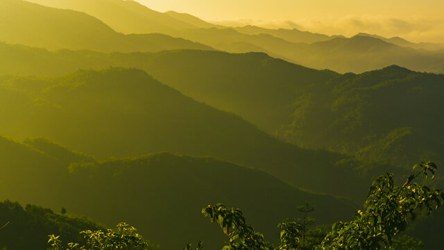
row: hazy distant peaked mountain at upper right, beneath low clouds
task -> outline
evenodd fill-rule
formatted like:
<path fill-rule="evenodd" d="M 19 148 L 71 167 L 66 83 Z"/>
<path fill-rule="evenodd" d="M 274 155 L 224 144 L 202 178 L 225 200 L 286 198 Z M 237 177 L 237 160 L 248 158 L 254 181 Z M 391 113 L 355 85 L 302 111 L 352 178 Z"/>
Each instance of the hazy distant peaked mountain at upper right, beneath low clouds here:
<path fill-rule="evenodd" d="M 399 47 L 377 38 L 355 36 L 315 42 L 288 55 L 307 67 L 361 73 L 389 65 L 428 72 L 444 72 L 444 53 Z"/>

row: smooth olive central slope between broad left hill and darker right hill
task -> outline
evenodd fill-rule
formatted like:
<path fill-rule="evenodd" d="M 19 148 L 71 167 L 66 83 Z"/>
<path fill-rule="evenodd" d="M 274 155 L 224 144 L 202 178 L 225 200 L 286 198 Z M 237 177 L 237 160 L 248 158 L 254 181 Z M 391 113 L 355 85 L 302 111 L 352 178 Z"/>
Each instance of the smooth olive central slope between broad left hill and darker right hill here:
<path fill-rule="evenodd" d="M 241 115 L 268 133 L 288 122 L 302 90 L 315 92 L 321 83 L 338 75 L 264 53 L 166 51 L 130 66 L 146 70 L 194 99 Z"/>

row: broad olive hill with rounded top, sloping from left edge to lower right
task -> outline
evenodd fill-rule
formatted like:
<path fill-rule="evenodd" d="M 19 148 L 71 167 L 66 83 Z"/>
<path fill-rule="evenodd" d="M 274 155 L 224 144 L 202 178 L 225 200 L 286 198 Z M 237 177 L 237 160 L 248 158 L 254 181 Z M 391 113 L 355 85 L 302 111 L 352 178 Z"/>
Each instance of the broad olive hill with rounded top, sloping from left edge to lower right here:
<path fill-rule="evenodd" d="M 8 117 L 0 133 L 12 138 L 42 136 L 98 157 L 157 151 L 214 156 L 332 194 L 361 197 L 365 190 L 350 187 L 368 184 L 351 178 L 354 165 L 339 162 L 348 157 L 281 142 L 142 70 L 80 71 L 49 80 L 3 77 L 0 85 L 0 115 Z M 341 180 L 349 186 L 336 185 Z"/>

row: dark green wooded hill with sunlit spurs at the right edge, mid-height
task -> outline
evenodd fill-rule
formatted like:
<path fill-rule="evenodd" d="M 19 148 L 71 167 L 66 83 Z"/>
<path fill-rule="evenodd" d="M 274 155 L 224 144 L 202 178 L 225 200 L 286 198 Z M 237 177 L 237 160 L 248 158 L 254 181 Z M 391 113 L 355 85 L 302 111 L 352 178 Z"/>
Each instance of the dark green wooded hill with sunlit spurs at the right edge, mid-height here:
<path fill-rule="evenodd" d="M 322 144 L 362 158 L 400 165 L 428 158 L 442 164 L 443 83 L 443 75 L 397 66 L 345 74 L 325 85 L 328 98 L 311 96 L 282 133 L 298 144 Z"/>

